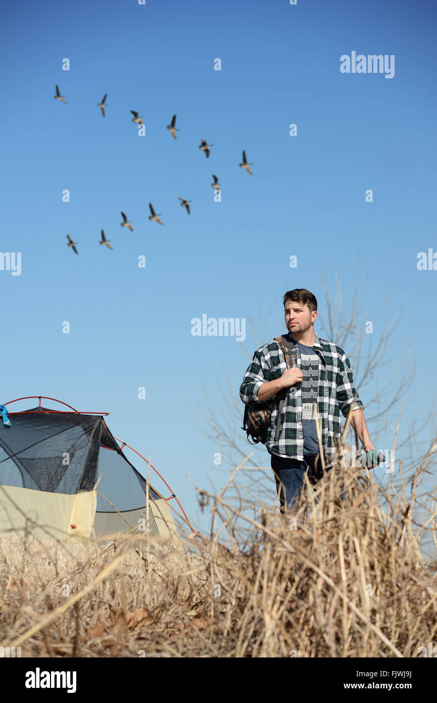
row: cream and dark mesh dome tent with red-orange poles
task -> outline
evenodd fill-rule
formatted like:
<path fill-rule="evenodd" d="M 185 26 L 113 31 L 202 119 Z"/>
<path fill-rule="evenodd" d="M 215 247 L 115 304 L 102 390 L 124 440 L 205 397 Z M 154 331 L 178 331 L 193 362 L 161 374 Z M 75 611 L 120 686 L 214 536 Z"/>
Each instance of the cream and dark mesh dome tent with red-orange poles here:
<path fill-rule="evenodd" d="M 11 426 L 0 425 L 0 529 L 81 541 L 146 529 L 147 481 L 107 427 L 108 413 L 65 403 L 70 410 L 57 411 L 41 406 L 44 396 L 29 397 L 39 406 L 8 410 Z M 176 496 L 164 498 L 150 482 L 148 496 L 149 531 L 181 544 L 168 503 Z"/>

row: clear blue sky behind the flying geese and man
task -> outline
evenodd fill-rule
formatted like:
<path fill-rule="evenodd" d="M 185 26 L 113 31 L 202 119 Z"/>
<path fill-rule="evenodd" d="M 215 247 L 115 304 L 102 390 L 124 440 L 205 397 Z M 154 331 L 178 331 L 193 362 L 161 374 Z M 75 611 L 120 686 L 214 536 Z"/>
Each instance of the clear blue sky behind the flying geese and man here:
<path fill-rule="evenodd" d="M 389 318 L 403 309 L 397 338 L 418 333 L 405 429 L 415 411 L 426 415 L 432 367 L 420 361 L 435 356 L 437 273 L 417 271 L 417 254 L 437 251 L 436 6 L 24 1 L 1 15 L 0 248 L 22 254 L 20 276 L 0 271 L 1 402 L 44 394 L 110 411 L 112 432 L 152 451 L 204 527 L 186 475 L 220 485 L 214 453 L 223 448 L 193 419 L 204 388 L 226 413 L 223 368 L 238 390 L 248 360 L 235 338 L 193 337 L 191 319 L 257 324 L 258 305 L 266 319 L 292 288 L 314 292 L 323 316 L 322 266 L 332 282 L 334 266 L 341 272 L 347 309 L 360 257 L 367 319 L 386 311 L 389 284 Z M 394 54 L 395 76 L 342 74 L 340 56 L 351 51 Z M 56 84 L 66 105 L 53 100 Z M 130 110 L 143 115 L 145 136 Z M 177 141 L 166 129 L 175 112 Z M 209 159 L 201 138 L 214 143 Z M 239 168 L 242 149 L 253 176 Z M 192 200 L 190 216 L 178 196 Z M 148 221 L 148 202 L 164 226 Z M 133 233 L 120 226 L 122 210 Z M 98 244 L 101 228 L 112 251 Z M 252 355 L 254 346 L 247 323 L 244 347 Z"/>

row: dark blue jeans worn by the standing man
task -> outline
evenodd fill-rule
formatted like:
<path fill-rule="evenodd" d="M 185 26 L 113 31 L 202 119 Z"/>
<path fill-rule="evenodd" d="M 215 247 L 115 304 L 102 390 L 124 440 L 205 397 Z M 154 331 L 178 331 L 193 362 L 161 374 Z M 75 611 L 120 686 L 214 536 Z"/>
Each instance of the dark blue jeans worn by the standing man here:
<path fill-rule="evenodd" d="M 285 501 L 287 501 L 288 510 L 292 510 L 299 503 L 304 475 L 307 471 L 308 479 L 313 485 L 322 477 L 323 470 L 320 454 L 304 454 L 303 461 L 271 453 L 270 456 L 270 465 L 275 475 L 276 489 L 281 504 L 280 511 L 283 513 L 286 510 Z M 325 457 L 325 466 L 329 463 L 329 460 Z M 327 469 L 327 472 L 329 471 L 330 469 Z M 342 499 L 343 496 L 344 494 L 341 494 Z"/>

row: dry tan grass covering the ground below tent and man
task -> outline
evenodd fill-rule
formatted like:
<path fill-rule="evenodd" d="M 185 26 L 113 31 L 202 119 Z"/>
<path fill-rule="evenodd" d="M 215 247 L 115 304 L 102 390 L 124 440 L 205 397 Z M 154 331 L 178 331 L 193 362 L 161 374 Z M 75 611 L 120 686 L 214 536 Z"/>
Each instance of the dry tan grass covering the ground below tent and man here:
<path fill-rule="evenodd" d="M 3 534 L 0 645 L 22 657 L 416 657 L 433 641 L 436 560 L 420 546 L 436 545 L 436 499 L 417 496 L 421 467 L 390 496 L 336 467 L 319 503 L 306 491 L 287 517 L 254 505 L 234 473 L 209 496 L 204 557 L 139 537 Z"/>

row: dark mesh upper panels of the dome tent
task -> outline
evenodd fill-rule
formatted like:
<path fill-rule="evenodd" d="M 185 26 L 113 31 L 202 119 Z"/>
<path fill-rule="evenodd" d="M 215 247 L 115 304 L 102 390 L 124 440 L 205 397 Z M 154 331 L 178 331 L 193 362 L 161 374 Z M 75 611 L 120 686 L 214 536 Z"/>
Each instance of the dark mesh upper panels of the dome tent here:
<path fill-rule="evenodd" d="M 146 503 L 146 480 L 119 449 L 101 415 L 37 407 L 0 425 L 0 484 L 49 493 L 97 490 L 123 510 Z M 149 497 L 162 498 L 149 484 Z M 97 510 L 116 512 L 97 496 Z"/>

